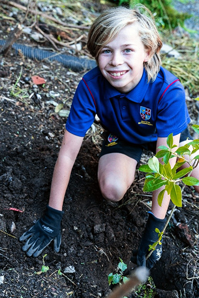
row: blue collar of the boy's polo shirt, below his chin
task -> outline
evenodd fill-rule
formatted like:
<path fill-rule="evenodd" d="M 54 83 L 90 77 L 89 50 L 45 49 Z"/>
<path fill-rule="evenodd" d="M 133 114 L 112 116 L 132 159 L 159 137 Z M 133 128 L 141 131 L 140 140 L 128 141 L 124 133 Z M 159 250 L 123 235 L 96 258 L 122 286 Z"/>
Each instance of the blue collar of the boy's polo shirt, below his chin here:
<path fill-rule="evenodd" d="M 104 97 L 106 99 L 116 96 L 126 97 L 134 102 L 141 102 L 145 96 L 145 93 L 148 89 L 149 83 L 147 82 L 147 74 L 144 69 L 141 80 L 139 83 L 128 93 L 121 93 L 115 89 L 106 79 L 105 79 L 105 90 Z"/>

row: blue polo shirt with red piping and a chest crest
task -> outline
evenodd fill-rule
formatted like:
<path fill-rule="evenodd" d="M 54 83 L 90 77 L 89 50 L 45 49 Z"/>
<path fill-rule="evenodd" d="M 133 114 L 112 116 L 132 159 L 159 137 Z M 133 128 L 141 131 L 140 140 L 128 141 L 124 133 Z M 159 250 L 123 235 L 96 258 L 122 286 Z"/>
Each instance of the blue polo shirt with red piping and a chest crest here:
<path fill-rule="evenodd" d="M 75 92 L 66 129 L 84 137 L 96 114 L 106 130 L 133 144 L 177 135 L 190 122 L 183 85 L 162 67 L 149 83 L 143 69 L 141 80 L 128 93 L 111 86 L 98 67 L 85 74 Z"/>

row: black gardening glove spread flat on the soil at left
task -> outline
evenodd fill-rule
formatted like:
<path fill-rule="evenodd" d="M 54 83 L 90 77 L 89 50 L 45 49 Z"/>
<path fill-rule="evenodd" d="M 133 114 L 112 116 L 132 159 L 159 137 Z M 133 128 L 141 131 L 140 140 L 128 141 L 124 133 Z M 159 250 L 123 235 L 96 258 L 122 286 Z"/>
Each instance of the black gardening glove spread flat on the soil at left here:
<path fill-rule="evenodd" d="M 20 236 L 19 241 L 27 239 L 22 250 L 26 251 L 28 257 L 38 257 L 52 240 L 54 240 L 54 251 L 59 252 L 63 214 L 63 211 L 56 210 L 47 205 L 44 217 Z"/>

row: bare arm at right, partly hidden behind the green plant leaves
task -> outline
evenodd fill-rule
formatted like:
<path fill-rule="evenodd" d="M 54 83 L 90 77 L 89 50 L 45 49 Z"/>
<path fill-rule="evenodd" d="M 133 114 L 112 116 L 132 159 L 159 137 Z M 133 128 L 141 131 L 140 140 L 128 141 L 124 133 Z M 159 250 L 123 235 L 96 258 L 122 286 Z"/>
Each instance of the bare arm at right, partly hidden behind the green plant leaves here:
<path fill-rule="evenodd" d="M 174 138 L 174 144 L 179 146 L 180 134 L 174 136 L 173 138 Z M 159 146 L 167 146 L 167 138 L 158 138 L 157 148 Z M 156 151 L 158 151 L 158 150 L 159 149 L 156 149 Z M 176 157 L 171 158 L 170 159 L 170 164 L 171 164 L 172 168 L 174 167 L 175 163 L 176 163 Z M 167 194 L 167 192 L 165 192 L 164 199 L 162 201 L 162 206 L 161 207 L 159 206 L 159 204 L 158 204 L 158 194 L 160 193 L 160 191 L 163 188 L 164 188 L 164 186 L 153 192 L 152 210 L 151 211 L 154 214 L 154 216 L 157 217 L 158 219 L 164 219 L 165 218 L 165 215 L 167 213 L 167 209 L 169 207 L 169 202 L 170 202 L 170 196 Z"/>

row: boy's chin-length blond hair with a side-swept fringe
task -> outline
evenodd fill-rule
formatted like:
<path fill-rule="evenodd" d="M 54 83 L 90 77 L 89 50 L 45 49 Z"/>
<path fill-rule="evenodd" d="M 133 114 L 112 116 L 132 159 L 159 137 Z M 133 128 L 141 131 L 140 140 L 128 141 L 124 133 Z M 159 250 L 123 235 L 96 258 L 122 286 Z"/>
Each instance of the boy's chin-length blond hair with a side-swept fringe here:
<path fill-rule="evenodd" d="M 90 28 L 88 50 L 98 63 L 100 49 L 114 39 L 121 29 L 130 24 L 137 25 L 141 41 L 150 53 L 150 59 L 144 62 L 144 68 L 148 82 L 154 81 L 161 66 L 162 41 L 152 13 L 144 5 L 136 5 L 134 8 L 118 6 L 105 10 Z"/>

